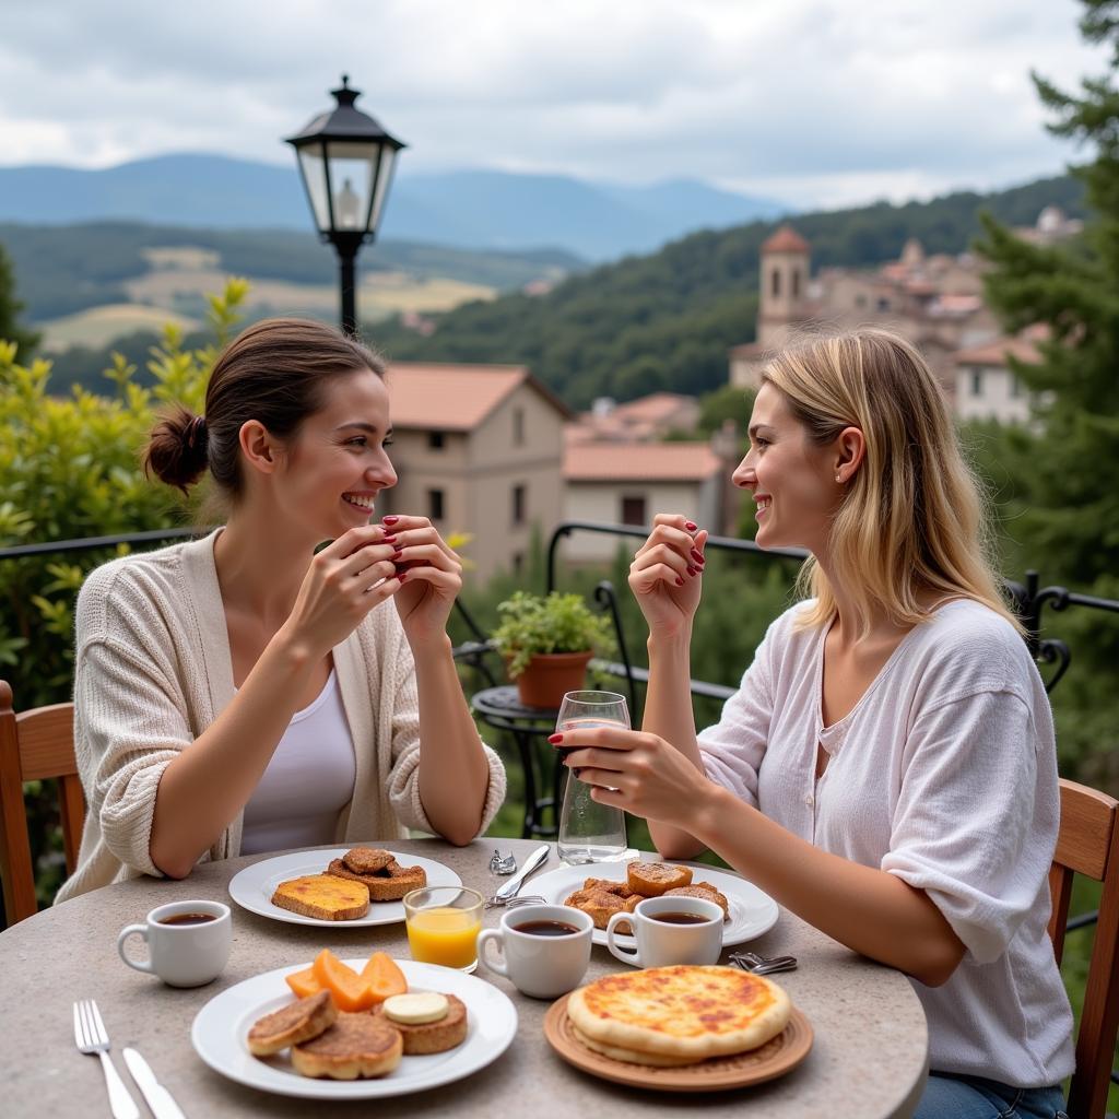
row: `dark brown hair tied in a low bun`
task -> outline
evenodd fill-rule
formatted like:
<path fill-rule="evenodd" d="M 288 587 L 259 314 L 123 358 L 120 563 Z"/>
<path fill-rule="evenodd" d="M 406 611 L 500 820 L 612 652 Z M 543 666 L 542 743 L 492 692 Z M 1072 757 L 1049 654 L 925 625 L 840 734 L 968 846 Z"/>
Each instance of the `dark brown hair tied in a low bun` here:
<path fill-rule="evenodd" d="M 172 405 L 152 429 L 144 472 L 187 491 L 208 468 L 219 495 L 242 496 L 241 427 L 257 420 L 290 439 L 322 406 L 326 383 L 384 361 L 354 338 L 311 319 L 262 319 L 218 356 L 206 387 L 205 419 Z"/>

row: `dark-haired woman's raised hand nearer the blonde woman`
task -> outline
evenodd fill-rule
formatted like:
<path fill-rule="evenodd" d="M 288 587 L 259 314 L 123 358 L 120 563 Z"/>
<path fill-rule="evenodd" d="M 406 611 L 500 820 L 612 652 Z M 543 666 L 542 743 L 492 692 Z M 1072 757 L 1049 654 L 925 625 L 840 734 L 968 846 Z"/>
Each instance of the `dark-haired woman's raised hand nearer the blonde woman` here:
<path fill-rule="evenodd" d="M 462 590 L 462 561 L 426 517 L 385 517 L 384 527 L 396 544 L 396 610 L 408 643 L 443 637 Z"/>

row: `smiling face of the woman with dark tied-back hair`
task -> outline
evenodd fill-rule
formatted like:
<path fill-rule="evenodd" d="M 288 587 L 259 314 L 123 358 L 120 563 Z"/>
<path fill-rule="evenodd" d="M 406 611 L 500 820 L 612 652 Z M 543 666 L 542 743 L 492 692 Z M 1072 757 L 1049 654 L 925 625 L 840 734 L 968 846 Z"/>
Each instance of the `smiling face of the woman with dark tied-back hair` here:
<path fill-rule="evenodd" d="M 368 524 L 377 495 L 396 485 L 391 442 L 384 380 L 372 369 L 332 377 L 284 452 L 285 507 L 320 540 Z"/>

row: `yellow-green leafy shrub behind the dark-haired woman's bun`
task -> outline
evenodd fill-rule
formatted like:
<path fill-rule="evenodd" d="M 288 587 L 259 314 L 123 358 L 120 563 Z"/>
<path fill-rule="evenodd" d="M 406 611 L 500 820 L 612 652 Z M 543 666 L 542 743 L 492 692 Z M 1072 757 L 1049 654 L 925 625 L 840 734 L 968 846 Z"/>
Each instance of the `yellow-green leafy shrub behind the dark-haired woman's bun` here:
<path fill-rule="evenodd" d="M 201 410 L 217 350 L 237 320 L 244 281 L 231 280 L 210 310 L 213 338 L 184 349 L 168 328 L 148 361 L 152 387 L 117 355 L 104 373 L 107 395 L 75 388 L 49 393 L 50 364 L 17 363 L 0 344 L 0 546 L 141 532 L 182 525 L 189 508 L 177 491 L 151 485 L 140 452 L 156 410 L 177 399 Z M 0 564 L 0 665 L 19 707 L 68 698 L 74 602 L 106 551 L 8 560 Z"/>

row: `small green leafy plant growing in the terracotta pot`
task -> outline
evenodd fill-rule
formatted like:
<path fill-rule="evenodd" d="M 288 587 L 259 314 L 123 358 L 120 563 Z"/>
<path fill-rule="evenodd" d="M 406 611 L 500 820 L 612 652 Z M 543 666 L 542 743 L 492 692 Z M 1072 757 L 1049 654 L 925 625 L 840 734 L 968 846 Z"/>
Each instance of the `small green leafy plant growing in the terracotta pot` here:
<path fill-rule="evenodd" d="M 493 643 L 509 658 L 509 675 L 516 679 L 538 652 L 583 652 L 600 656 L 613 649 L 610 619 L 594 613 L 579 594 L 553 591 L 542 598 L 515 591 L 498 604 L 501 623 Z"/>

